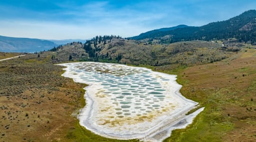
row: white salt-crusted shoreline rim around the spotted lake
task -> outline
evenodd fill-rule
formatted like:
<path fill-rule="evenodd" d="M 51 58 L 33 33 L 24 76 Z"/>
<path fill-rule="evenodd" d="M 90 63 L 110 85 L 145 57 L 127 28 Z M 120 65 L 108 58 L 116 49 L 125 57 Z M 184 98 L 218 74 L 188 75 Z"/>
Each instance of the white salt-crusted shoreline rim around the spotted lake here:
<path fill-rule="evenodd" d="M 59 64 L 59 65 L 67 66 L 67 64 L 72 64 L 72 63 L 64 63 L 64 64 Z M 118 65 L 120 65 L 120 64 L 118 64 Z M 125 65 L 120 65 L 120 66 L 125 66 Z M 132 68 L 140 68 L 140 69 L 152 71 L 150 69 L 143 68 L 143 67 L 132 67 Z M 67 68 L 64 68 L 63 70 L 65 72 L 64 72 L 64 74 L 62 74 L 62 76 L 68 77 L 68 78 L 73 78 L 73 80 L 75 82 L 84 83 L 81 79 L 75 78 L 74 76 L 72 76 L 70 74 L 70 72 L 68 71 L 68 66 L 67 66 Z M 152 71 L 152 72 L 155 72 L 155 71 Z M 157 72 L 157 73 L 162 75 L 162 76 L 172 76 L 176 80 L 176 75 L 169 75 L 169 74 L 165 74 L 165 73 L 162 73 L 162 72 Z M 81 109 L 80 114 L 78 115 L 78 119 L 80 120 L 80 124 L 82 126 L 84 126 L 86 129 L 92 131 L 93 133 L 96 133 L 96 134 L 99 134 L 99 135 L 102 135 L 102 136 L 108 137 L 108 138 L 119 139 L 119 140 L 140 139 L 140 140 L 144 140 L 144 141 L 145 140 L 146 141 L 159 141 L 159 140 L 162 141 L 165 138 L 170 136 L 171 130 L 177 129 L 178 127 L 181 127 L 181 125 L 179 125 L 179 126 L 175 126 L 175 125 L 180 123 L 182 120 L 186 120 L 185 121 L 186 123 L 183 123 L 183 125 L 182 125 L 183 127 L 185 127 L 186 125 L 192 123 L 192 119 L 196 116 L 194 114 L 198 114 L 203 110 L 203 108 L 201 108 L 201 109 L 195 111 L 194 113 L 192 113 L 190 115 L 185 115 L 192 108 L 194 108 L 198 103 L 184 98 L 182 96 L 182 94 L 179 92 L 179 90 L 182 88 L 182 86 L 179 85 L 175 80 L 173 80 L 174 85 L 176 84 L 178 86 L 178 87 L 176 87 L 176 89 L 174 91 L 175 96 L 179 99 L 183 99 L 184 101 L 192 103 L 192 105 L 190 105 L 190 107 L 187 107 L 185 109 L 183 108 L 182 112 L 178 112 L 175 115 L 171 115 L 171 116 L 165 118 L 164 120 L 161 121 L 161 123 L 155 124 L 154 127 L 144 131 L 143 133 L 132 133 L 132 134 L 129 134 L 129 133 L 128 134 L 105 133 L 105 132 L 99 131 L 99 129 L 94 128 L 94 127 L 91 126 L 90 121 L 88 121 L 88 120 L 91 120 L 91 114 L 92 114 L 92 111 L 93 111 L 94 101 L 90 97 L 90 94 L 88 93 L 88 89 L 90 91 L 90 87 L 93 86 L 93 85 L 90 84 L 90 83 L 86 83 L 89 86 L 84 88 L 84 89 L 86 89 L 86 92 L 84 94 L 84 98 L 86 100 L 86 106 Z M 86 119 L 84 119 L 84 118 L 86 118 Z M 190 120 L 191 120 L 191 122 L 190 122 Z M 165 135 L 163 135 L 159 138 L 156 138 L 156 135 L 159 135 L 159 133 L 162 133 L 162 132 L 165 132 L 165 131 L 167 131 L 167 133 L 165 133 Z"/>

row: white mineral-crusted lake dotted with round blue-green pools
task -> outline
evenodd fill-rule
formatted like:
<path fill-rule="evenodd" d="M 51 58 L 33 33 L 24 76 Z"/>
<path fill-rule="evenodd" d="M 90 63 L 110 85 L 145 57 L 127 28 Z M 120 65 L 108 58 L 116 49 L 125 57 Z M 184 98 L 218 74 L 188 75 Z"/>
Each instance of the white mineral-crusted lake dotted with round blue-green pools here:
<path fill-rule="evenodd" d="M 78 118 L 94 133 L 115 139 L 150 136 L 182 119 L 196 102 L 184 98 L 175 75 L 100 62 L 59 64 L 64 77 L 85 83 Z"/>

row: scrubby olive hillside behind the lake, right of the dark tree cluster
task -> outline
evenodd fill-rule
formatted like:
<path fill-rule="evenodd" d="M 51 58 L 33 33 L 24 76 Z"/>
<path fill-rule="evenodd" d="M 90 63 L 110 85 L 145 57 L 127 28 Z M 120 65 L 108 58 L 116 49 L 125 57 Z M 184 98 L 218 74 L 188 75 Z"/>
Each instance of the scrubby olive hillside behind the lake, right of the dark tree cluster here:
<path fill-rule="evenodd" d="M 227 58 L 227 52 L 221 50 L 220 44 L 205 41 L 178 42 L 169 45 L 144 45 L 133 41 L 111 41 L 102 47 L 99 55 L 114 59 L 122 54 L 120 63 L 168 65 L 174 69 L 178 64 L 194 66 Z"/>

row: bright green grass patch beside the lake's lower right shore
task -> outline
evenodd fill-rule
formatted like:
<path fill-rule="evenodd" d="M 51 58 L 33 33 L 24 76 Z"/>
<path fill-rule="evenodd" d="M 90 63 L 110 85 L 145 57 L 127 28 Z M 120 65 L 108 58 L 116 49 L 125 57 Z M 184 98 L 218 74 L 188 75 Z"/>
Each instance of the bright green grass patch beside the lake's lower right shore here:
<path fill-rule="evenodd" d="M 200 107 L 205 108 L 196 116 L 193 123 L 185 129 L 174 130 L 171 137 L 164 142 L 221 142 L 222 137 L 234 129 L 234 123 L 229 120 L 229 116 L 222 114 L 220 104 L 223 105 L 227 101 L 220 102 L 223 96 L 225 95 L 217 92 L 211 94 L 208 98 L 204 98 L 207 101 L 206 103 L 200 101 L 203 104 Z M 192 100 L 198 101 L 198 99 L 193 98 Z M 189 113 L 195 110 L 192 109 Z"/>

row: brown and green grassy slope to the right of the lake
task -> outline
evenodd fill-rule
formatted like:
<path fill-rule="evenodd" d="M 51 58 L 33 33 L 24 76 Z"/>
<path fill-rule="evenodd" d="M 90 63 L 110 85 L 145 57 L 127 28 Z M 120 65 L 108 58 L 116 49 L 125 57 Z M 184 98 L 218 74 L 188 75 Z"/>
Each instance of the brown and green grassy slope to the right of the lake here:
<path fill-rule="evenodd" d="M 231 59 L 177 72 L 183 96 L 205 110 L 165 142 L 256 141 L 256 50 Z"/>

